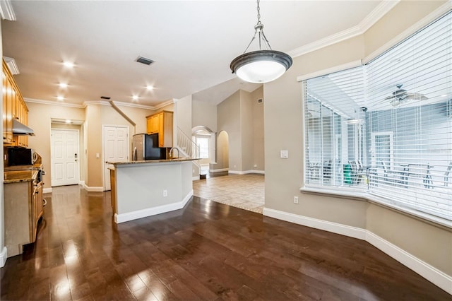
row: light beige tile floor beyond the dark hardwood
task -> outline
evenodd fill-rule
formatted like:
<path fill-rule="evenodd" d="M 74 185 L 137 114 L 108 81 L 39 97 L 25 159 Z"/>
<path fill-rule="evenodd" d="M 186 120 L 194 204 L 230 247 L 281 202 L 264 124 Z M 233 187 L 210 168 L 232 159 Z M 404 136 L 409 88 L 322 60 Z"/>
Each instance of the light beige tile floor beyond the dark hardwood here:
<path fill-rule="evenodd" d="M 218 203 L 261 213 L 264 204 L 264 175 L 225 175 L 193 182 L 194 195 Z"/>

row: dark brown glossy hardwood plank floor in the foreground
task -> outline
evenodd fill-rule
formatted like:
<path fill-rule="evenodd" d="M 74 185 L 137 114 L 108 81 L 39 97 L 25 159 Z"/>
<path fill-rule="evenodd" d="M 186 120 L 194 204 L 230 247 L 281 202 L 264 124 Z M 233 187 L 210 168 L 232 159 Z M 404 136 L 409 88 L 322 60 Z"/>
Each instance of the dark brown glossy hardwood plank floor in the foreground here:
<path fill-rule="evenodd" d="M 109 192 L 56 187 L 1 300 L 451 300 L 367 242 L 194 197 L 116 225 Z"/>

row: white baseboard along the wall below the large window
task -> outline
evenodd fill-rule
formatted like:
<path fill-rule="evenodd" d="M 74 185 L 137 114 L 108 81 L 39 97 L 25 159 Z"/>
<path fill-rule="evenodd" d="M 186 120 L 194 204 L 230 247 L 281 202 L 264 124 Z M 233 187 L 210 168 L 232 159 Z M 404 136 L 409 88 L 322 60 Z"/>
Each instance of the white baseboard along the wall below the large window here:
<path fill-rule="evenodd" d="M 400 264 L 411 268 L 413 271 L 420 274 L 420 276 L 426 278 L 428 281 L 434 283 L 434 285 L 452 295 L 452 276 L 439 271 L 434 266 L 427 264 L 427 262 L 424 262 L 405 250 L 400 249 L 400 247 L 384 240 L 369 230 L 332 223 L 316 218 L 309 218 L 307 216 L 298 216 L 297 214 L 270 208 L 263 208 L 263 216 L 269 216 L 270 218 L 277 218 L 278 220 L 285 220 L 290 223 L 305 225 L 307 227 L 325 230 L 349 237 L 355 237 L 359 240 L 365 240 L 377 249 L 380 249 L 382 252 L 391 256 L 393 259 L 399 261 Z"/>

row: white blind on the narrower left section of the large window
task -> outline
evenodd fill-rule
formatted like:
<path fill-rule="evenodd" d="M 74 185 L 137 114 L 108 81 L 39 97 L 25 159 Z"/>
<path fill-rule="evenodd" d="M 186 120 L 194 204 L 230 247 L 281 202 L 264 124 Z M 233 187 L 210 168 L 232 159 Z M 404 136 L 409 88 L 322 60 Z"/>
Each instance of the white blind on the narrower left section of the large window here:
<path fill-rule="evenodd" d="M 350 172 L 365 158 L 363 105 L 361 67 L 306 82 L 307 184 L 342 187 L 364 180 Z"/>

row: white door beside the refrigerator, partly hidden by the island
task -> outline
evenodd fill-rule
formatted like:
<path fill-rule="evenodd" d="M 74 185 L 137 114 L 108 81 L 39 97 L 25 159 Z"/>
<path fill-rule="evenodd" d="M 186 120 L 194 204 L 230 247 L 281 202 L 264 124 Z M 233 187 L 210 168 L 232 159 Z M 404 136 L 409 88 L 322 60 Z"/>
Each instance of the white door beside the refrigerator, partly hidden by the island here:
<path fill-rule="evenodd" d="M 104 190 L 112 189 L 108 162 L 129 160 L 129 126 L 103 126 L 104 128 Z"/>

